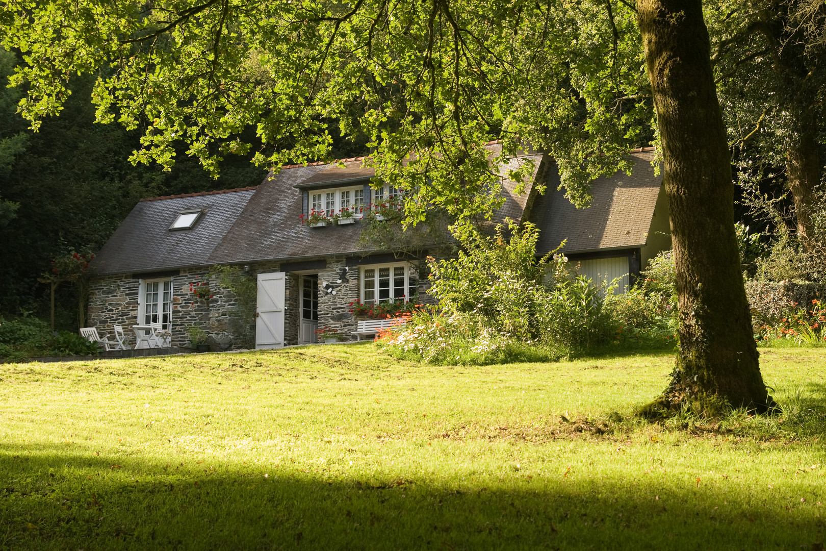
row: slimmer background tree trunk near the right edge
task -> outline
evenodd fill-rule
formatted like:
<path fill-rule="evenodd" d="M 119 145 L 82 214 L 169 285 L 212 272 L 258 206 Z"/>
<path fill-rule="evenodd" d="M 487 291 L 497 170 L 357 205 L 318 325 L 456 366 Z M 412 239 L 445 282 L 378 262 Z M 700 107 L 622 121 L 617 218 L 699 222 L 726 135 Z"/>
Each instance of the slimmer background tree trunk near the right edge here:
<path fill-rule="evenodd" d="M 795 128 L 786 149 L 786 176 L 789 191 L 795 200 L 797 237 L 807 253 L 817 253 L 819 244 L 814 239 L 812 211 L 817 196 L 814 188 L 820 183 L 820 152 L 815 138 L 817 123 L 814 114 L 803 113 L 803 121 Z"/>

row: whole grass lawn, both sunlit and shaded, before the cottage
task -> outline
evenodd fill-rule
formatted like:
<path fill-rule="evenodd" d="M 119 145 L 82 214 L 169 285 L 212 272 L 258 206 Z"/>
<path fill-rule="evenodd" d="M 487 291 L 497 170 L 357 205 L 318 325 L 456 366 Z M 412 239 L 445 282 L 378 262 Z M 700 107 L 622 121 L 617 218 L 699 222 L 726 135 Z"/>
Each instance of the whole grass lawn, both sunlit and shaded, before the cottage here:
<path fill-rule="evenodd" d="M 629 420 L 671 365 L 0 365 L 0 549 L 821 549 L 826 349 L 762 350 L 782 416 Z"/>

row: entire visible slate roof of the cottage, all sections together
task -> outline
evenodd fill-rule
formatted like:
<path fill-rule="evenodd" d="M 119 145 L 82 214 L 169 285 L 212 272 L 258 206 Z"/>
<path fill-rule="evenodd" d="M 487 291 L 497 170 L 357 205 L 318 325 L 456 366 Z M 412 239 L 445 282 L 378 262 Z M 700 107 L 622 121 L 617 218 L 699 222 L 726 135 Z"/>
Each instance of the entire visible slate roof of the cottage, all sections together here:
<path fill-rule="evenodd" d="M 501 146 L 488 145 L 491 159 Z M 617 173 L 593 183 L 591 207 L 577 210 L 558 191 L 553 161 L 529 152 L 500 168 L 505 204 L 496 211 L 488 230 L 506 216 L 521 221 L 527 211 L 539 226 L 538 252 L 544 253 L 567 237 L 568 252 L 629 248 L 645 244 L 662 178 L 653 176 L 653 151 L 638 151 L 634 173 Z M 534 161 L 534 177 L 524 194 L 506 178 L 526 159 Z M 301 225 L 301 188 L 335 187 L 372 178 L 363 158 L 334 164 L 291 165 L 269 173 L 257 188 L 143 200 L 131 211 L 97 255 L 97 273 L 135 273 L 211 264 L 240 264 L 263 260 L 314 259 L 373 252 L 358 247 L 363 224 L 310 228 Z M 548 190 L 537 196 L 536 179 L 548 178 Z M 556 181 L 553 181 L 556 178 Z M 299 188 L 296 188 L 299 186 Z M 206 208 L 192 230 L 169 231 L 180 211 Z"/>

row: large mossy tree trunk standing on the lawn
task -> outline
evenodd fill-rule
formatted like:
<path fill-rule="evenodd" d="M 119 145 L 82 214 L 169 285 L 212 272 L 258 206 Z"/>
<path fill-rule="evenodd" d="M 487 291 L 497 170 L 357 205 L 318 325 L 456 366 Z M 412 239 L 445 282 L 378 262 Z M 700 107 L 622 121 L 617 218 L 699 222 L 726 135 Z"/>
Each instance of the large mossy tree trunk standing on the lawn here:
<path fill-rule="evenodd" d="M 671 203 L 680 315 L 672 381 L 647 412 L 684 404 L 706 415 L 727 405 L 766 411 L 773 401 L 743 288 L 729 147 L 700 0 L 638 0 L 637 7 Z"/>

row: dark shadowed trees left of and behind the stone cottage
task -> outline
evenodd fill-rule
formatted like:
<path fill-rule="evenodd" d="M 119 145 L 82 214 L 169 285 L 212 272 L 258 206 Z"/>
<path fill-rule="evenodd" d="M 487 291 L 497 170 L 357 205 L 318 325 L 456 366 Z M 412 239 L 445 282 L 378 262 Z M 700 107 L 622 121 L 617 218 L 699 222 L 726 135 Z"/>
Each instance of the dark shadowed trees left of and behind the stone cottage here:
<path fill-rule="evenodd" d="M 266 175 L 250 155 L 226 155 L 217 180 L 186 157 L 172 172 L 135 166 L 138 135 L 94 124 L 90 78 L 76 78 L 59 117 L 32 132 L 16 113 L 21 91 L 7 88 L 15 55 L 0 48 L 0 313 L 48 316 L 49 286 L 37 281 L 50 260 L 99 249 L 142 197 L 258 185 Z M 75 330 L 78 288 L 56 289 L 56 323 Z"/>

